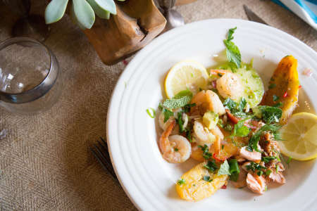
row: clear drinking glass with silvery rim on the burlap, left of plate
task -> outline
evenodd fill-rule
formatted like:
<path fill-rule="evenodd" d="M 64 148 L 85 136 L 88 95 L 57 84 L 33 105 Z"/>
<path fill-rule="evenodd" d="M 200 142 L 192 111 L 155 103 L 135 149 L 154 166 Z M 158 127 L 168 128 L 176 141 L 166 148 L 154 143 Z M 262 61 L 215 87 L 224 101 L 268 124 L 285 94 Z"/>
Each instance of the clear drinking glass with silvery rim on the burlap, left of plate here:
<path fill-rule="evenodd" d="M 61 70 L 51 50 L 28 37 L 0 43 L 0 106 L 12 113 L 38 113 L 56 103 Z"/>

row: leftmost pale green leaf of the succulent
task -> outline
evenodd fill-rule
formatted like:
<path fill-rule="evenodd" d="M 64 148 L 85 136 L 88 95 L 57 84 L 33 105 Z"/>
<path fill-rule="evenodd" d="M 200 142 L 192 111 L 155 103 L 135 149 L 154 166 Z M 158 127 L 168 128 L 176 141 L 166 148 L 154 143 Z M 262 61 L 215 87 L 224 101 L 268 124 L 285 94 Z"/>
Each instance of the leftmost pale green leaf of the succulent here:
<path fill-rule="evenodd" d="M 68 4 L 68 0 L 52 0 L 45 9 L 45 23 L 55 23 L 60 20 Z"/>

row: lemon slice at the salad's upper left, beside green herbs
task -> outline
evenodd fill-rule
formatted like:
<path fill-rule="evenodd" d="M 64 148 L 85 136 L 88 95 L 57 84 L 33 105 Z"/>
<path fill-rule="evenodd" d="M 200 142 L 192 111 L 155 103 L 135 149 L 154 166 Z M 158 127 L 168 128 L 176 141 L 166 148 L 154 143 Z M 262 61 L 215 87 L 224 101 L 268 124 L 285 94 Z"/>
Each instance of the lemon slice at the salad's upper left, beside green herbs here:
<path fill-rule="evenodd" d="M 166 75 L 164 87 L 166 96 L 173 98 L 180 91 L 189 89 L 196 93 L 199 88 L 206 89 L 209 75 L 203 65 L 193 61 L 184 60 L 170 68 Z"/>

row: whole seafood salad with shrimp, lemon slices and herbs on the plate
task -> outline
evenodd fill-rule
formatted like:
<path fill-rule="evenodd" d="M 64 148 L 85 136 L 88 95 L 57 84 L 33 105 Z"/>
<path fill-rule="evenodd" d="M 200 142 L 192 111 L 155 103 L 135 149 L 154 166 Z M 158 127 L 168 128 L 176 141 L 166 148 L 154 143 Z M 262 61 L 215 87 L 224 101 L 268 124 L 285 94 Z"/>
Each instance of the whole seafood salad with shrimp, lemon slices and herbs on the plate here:
<path fill-rule="evenodd" d="M 290 160 L 317 156 L 317 136 L 311 132 L 317 129 L 316 115 L 293 114 L 301 88 L 297 60 L 282 58 L 265 91 L 252 62 L 241 60 L 232 41 L 235 30 L 223 40 L 225 63 L 207 69 L 192 60 L 177 63 L 166 75 L 167 98 L 157 115 L 147 110 L 161 127 L 163 159 L 199 161 L 175 181 L 184 200 L 207 198 L 228 183 L 263 194 L 268 184 L 286 183 L 283 172 Z M 307 127 L 297 135 L 292 128 L 299 120 Z"/>

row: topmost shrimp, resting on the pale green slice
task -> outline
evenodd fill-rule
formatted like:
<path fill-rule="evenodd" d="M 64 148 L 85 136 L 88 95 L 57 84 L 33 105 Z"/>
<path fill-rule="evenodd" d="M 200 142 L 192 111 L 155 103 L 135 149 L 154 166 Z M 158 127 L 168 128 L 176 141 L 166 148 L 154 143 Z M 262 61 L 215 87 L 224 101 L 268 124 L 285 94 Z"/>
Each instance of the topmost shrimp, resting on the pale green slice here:
<path fill-rule="evenodd" d="M 220 96 L 223 98 L 231 98 L 233 101 L 239 100 L 244 91 L 240 77 L 232 72 L 227 72 L 217 79 L 216 87 Z"/>

